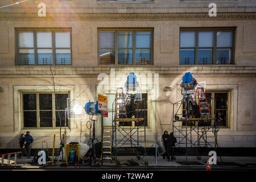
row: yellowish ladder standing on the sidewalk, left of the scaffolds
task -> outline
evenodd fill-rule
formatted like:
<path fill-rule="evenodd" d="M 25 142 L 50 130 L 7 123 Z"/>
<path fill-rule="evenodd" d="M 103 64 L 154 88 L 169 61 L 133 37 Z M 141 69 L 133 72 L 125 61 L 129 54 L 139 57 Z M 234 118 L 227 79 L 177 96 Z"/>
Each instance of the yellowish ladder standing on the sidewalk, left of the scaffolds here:
<path fill-rule="evenodd" d="M 110 159 L 112 163 L 112 143 L 111 143 L 111 131 L 106 130 L 104 126 L 102 147 L 101 147 L 101 163 L 103 164 L 104 159 Z"/>

